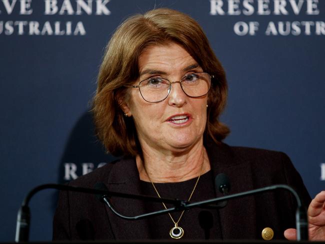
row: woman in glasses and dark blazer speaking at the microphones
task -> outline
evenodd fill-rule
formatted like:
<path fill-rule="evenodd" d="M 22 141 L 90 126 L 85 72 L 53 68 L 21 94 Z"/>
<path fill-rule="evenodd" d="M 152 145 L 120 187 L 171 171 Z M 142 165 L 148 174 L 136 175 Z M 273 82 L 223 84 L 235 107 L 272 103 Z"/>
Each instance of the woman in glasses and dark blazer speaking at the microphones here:
<path fill-rule="evenodd" d="M 70 182 L 111 191 L 198 201 L 221 196 L 214 177 L 222 172 L 230 193 L 275 183 L 293 186 L 305 205 L 310 197 L 284 153 L 230 147 L 218 118 L 226 102 L 224 70 L 200 26 L 171 9 L 126 19 L 109 41 L 93 101 L 99 139 L 122 159 Z M 265 170 L 267 169 L 267 170 Z M 325 192 L 312 201 L 310 237 L 323 238 Z M 134 216 L 168 204 L 111 197 L 115 208 Z M 286 191 L 229 200 L 221 209 L 174 212 L 124 220 L 95 197 L 61 192 L 53 239 L 274 239 L 294 227 L 296 206 Z M 322 214 L 322 216 L 321 216 Z M 286 230 L 294 238 L 294 230 Z"/>

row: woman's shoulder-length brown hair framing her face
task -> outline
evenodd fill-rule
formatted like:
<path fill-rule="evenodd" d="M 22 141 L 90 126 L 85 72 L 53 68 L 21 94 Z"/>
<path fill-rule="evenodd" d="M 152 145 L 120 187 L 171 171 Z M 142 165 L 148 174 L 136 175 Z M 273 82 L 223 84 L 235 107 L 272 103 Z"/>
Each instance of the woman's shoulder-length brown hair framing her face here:
<path fill-rule="evenodd" d="M 190 16 L 167 8 L 157 8 L 127 18 L 108 42 L 99 69 L 93 98 L 94 123 L 98 138 L 113 155 L 136 155 L 140 146 L 132 118 L 125 117 L 119 100 L 129 99 L 125 84 L 139 76 L 138 58 L 151 45 L 180 44 L 202 67 L 214 75 L 208 92 L 204 138 L 221 141 L 229 133 L 219 122 L 227 97 L 225 72 L 214 55 L 199 24 Z"/>

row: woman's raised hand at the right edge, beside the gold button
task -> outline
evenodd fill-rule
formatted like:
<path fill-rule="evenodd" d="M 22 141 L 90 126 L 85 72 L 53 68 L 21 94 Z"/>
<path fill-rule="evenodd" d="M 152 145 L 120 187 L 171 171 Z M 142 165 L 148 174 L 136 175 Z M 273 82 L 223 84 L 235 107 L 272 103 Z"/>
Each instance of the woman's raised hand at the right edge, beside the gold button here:
<path fill-rule="evenodd" d="M 307 215 L 309 240 L 325 240 L 325 190 L 320 191 L 311 200 Z M 288 240 L 295 240 L 296 229 L 286 229 L 284 237 Z"/>

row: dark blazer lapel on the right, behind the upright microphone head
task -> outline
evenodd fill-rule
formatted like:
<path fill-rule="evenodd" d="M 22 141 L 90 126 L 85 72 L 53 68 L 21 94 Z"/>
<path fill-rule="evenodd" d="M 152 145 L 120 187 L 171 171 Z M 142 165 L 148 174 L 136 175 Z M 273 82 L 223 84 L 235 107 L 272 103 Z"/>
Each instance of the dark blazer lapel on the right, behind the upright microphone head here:
<path fill-rule="evenodd" d="M 226 144 L 209 143 L 206 146 L 213 175 L 225 173 L 230 180 L 229 194 L 253 189 L 249 162 L 236 158 L 231 147 Z M 216 196 L 222 196 L 215 189 Z M 249 202 L 249 203 L 248 203 Z M 223 239 L 246 239 L 255 236 L 256 216 L 253 196 L 230 199 L 219 209 L 221 237 Z"/>

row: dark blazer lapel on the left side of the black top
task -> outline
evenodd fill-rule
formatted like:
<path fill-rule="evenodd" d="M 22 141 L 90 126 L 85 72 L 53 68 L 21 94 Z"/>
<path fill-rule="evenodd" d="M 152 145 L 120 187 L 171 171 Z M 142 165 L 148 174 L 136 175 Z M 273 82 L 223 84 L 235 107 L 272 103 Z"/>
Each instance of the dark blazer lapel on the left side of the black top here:
<path fill-rule="evenodd" d="M 141 194 L 140 178 L 134 159 L 121 159 L 113 165 L 106 186 L 110 191 Z M 121 197 L 111 197 L 115 210 L 125 216 L 145 213 L 143 201 Z M 116 216 L 107 206 L 106 212 L 115 239 L 149 239 L 146 219 L 127 220 Z"/>

